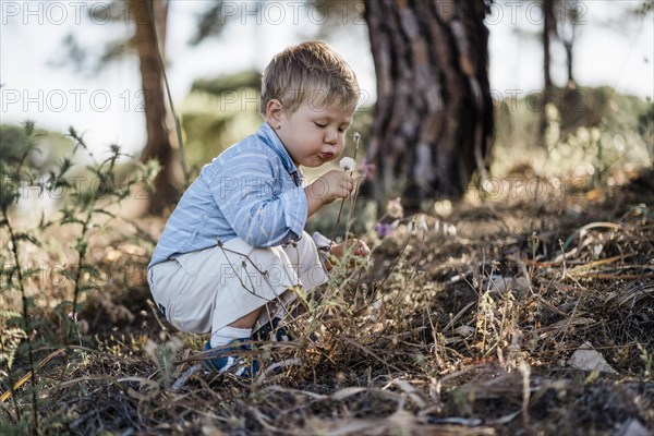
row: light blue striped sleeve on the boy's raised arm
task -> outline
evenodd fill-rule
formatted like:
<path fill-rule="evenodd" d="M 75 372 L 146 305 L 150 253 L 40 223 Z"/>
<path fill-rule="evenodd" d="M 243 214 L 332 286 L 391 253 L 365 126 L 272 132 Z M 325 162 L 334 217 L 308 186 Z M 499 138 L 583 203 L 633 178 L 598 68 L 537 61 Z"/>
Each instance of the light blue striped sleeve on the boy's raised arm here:
<path fill-rule="evenodd" d="M 247 244 L 268 247 L 298 241 L 308 205 L 304 189 L 275 177 L 268 156 L 259 150 L 241 152 L 223 165 L 208 189 L 230 227 Z M 280 192 L 281 184 L 281 193 Z"/>

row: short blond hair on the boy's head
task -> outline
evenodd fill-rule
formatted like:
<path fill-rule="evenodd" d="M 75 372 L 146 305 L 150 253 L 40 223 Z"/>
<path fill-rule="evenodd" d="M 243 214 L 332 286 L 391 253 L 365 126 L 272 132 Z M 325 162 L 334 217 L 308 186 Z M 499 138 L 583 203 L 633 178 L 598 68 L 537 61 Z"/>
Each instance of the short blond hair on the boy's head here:
<path fill-rule="evenodd" d="M 356 106 L 359 83 L 344 59 L 328 44 L 302 43 L 276 55 L 262 80 L 261 112 L 278 99 L 289 113 L 304 102 L 319 109 L 335 101 L 343 107 Z"/>

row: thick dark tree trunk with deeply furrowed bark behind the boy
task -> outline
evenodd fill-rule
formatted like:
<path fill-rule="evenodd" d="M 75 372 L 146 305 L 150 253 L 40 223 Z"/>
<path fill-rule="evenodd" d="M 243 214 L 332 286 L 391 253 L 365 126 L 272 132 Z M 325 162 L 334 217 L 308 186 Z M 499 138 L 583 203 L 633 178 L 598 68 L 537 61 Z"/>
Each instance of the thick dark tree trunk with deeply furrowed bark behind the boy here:
<path fill-rule="evenodd" d="M 368 161 L 378 201 L 403 193 L 461 197 L 476 169 L 486 175 L 493 135 L 488 31 L 483 1 L 367 0 L 377 73 Z M 402 186 L 400 189 L 400 186 Z"/>

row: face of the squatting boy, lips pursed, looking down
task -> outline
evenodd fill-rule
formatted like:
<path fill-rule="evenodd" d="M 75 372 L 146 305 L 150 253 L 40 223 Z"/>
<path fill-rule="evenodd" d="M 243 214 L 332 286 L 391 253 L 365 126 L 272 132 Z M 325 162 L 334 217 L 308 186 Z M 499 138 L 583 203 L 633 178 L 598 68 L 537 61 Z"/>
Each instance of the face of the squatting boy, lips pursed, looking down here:
<path fill-rule="evenodd" d="M 304 102 L 292 114 L 281 110 L 276 132 L 296 166 L 319 167 L 343 153 L 353 112 L 340 101 L 319 108 Z"/>

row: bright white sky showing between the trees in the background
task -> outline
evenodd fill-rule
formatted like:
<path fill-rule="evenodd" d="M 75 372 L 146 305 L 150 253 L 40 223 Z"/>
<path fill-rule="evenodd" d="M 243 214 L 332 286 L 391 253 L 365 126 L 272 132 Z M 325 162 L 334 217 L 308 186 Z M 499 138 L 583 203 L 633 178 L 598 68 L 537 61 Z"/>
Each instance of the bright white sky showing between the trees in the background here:
<path fill-rule="evenodd" d="M 257 19 L 255 4 L 264 5 Z M 620 93 L 654 95 L 654 25 L 623 14 L 642 1 L 590 0 L 577 8 L 574 75 L 580 85 L 616 87 Z M 26 119 L 43 129 L 64 133 L 69 125 L 84 132 L 96 149 L 112 143 L 129 153 L 145 144 L 143 96 L 138 62 L 125 58 L 93 74 L 76 72 L 63 49 L 73 34 L 83 47 L 97 50 L 107 40 L 128 38 L 131 26 L 104 20 L 108 2 L 0 0 L 0 122 Z M 121 4 L 121 3 L 119 3 Z M 196 15 L 207 0 L 174 0 L 168 21 L 167 68 L 175 106 L 194 80 L 233 73 L 246 68 L 262 71 L 288 45 L 315 38 L 320 15 L 300 1 L 226 1 L 223 15 L 231 24 L 220 38 L 189 45 Z M 374 100 L 375 72 L 366 26 L 352 3 L 343 2 L 331 19 L 341 22 L 329 43 L 356 73 L 368 100 Z M 126 1 L 122 3 L 124 8 Z M 90 20 L 88 12 L 96 19 Z M 567 20 L 562 13 L 557 20 Z M 497 1 L 486 19 L 489 37 L 491 88 L 495 97 L 526 95 L 542 87 L 542 49 L 537 32 L 542 11 L 534 1 Z M 555 47 L 553 78 L 565 83 L 565 52 Z M 59 66 L 53 66 L 59 64 Z"/>

